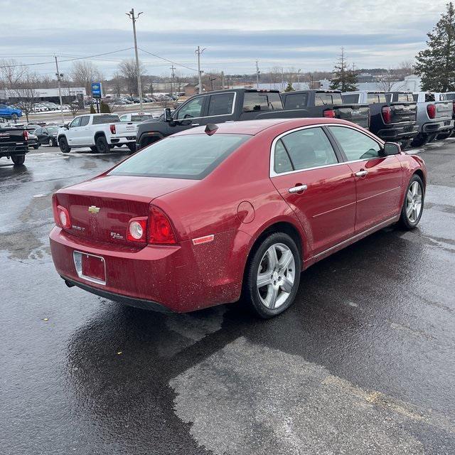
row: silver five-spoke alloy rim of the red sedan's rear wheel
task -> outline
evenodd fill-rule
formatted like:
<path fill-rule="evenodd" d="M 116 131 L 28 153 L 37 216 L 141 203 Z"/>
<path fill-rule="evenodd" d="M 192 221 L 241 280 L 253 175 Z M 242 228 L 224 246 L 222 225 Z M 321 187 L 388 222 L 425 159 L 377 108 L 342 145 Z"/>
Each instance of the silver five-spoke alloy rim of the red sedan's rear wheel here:
<path fill-rule="evenodd" d="M 282 306 L 294 288 L 294 255 L 283 243 L 274 243 L 264 252 L 257 271 L 257 291 L 268 309 Z"/>

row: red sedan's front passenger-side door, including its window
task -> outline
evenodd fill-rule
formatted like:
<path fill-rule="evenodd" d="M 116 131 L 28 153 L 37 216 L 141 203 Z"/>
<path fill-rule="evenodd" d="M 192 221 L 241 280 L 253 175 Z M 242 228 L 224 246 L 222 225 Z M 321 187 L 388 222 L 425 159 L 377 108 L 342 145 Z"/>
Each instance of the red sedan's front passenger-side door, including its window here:
<path fill-rule="evenodd" d="M 346 126 L 330 126 L 355 176 L 355 232 L 362 232 L 400 213 L 402 168 L 397 156 L 385 156 L 382 144 Z"/>

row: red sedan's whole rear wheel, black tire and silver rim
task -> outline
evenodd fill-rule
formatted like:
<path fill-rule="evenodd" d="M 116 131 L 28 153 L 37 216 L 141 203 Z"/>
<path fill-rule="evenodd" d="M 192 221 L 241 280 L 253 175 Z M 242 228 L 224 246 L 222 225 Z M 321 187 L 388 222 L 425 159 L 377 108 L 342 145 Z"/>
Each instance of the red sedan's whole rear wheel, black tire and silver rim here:
<path fill-rule="evenodd" d="M 301 258 L 294 240 L 274 232 L 252 250 L 243 296 L 263 319 L 277 316 L 294 302 L 299 289 Z"/>

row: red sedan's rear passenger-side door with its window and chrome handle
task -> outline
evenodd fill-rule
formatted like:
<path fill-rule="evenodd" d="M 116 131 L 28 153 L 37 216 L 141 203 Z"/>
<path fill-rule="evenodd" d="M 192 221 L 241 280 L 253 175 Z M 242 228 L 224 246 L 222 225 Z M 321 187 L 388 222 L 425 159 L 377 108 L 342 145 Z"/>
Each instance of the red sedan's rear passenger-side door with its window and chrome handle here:
<path fill-rule="evenodd" d="M 303 127 L 274 139 L 270 177 L 294 210 L 313 255 L 351 237 L 355 181 L 326 130 Z"/>

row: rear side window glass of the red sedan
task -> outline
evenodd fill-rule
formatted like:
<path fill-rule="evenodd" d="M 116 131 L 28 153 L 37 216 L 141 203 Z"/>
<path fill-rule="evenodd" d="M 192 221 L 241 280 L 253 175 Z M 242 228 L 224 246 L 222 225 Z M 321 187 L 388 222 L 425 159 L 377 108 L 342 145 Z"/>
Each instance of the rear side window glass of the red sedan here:
<path fill-rule="evenodd" d="M 320 127 L 301 129 L 275 145 L 274 171 L 300 171 L 338 163 L 332 144 Z"/>

